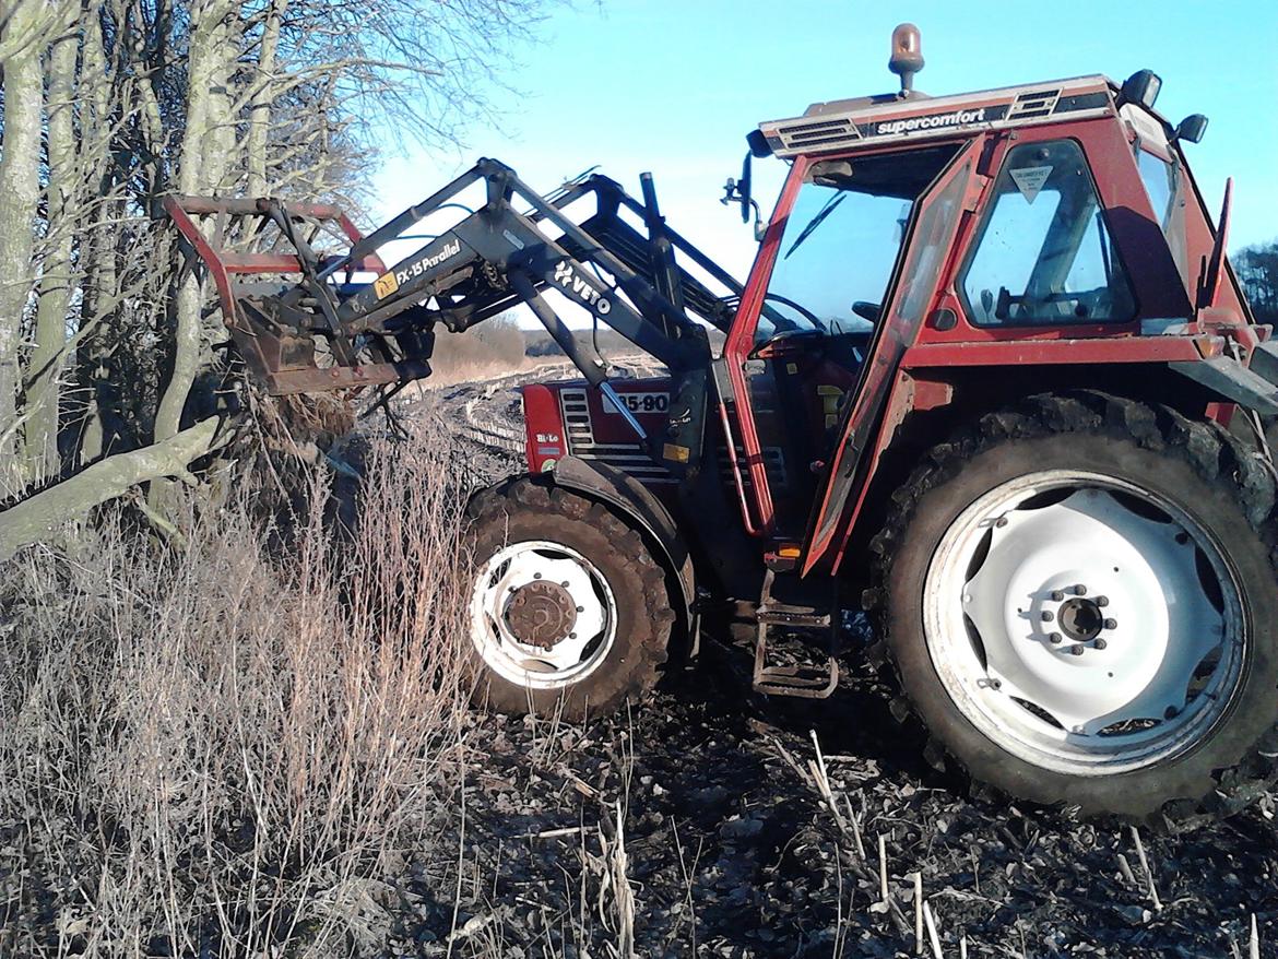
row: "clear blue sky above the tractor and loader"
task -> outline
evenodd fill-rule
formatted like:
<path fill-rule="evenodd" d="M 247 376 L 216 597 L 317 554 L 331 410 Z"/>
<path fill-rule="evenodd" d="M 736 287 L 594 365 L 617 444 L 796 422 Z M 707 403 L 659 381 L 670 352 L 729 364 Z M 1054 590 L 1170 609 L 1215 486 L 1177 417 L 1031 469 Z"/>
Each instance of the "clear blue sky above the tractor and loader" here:
<path fill-rule="evenodd" d="M 1231 248 L 1278 238 L 1274 0 L 578 0 L 519 52 L 506 78 L 519 93 L 495 96 L 492 127 L 470 129 L 460 148 L 385 160 L 374 212 L 399 212 L 479 156 L 543 192 L 598 164 L 638 194 L 639 173 L 652 170 L 671 225 L 744 275 L 750 230 L 718 197 L 740 170 L 745 133 L 813 101 L 896 90 L 888 38 L 901 20 L 923 32 L 916 86 L 933 95 L 1155 70 L 1164 115 L 1210 118 L 1189 156 L 1213 210 L 1235 178 Z M 755 164 L 766 212 L 783 173 L 777 160 Z"/>

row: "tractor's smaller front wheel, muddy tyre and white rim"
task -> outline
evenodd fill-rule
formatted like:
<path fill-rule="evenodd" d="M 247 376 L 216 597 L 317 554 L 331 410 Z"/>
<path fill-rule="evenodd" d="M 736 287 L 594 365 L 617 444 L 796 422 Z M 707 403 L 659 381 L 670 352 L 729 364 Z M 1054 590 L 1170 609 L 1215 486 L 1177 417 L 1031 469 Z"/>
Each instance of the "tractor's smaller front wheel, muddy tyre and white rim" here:
<path fill-rule="evenodd" d="M 636 529 L 532 478 L 479 494 L 470 515 L 478 703 L 579 720 L 656 685 L 675 615 Z"/>

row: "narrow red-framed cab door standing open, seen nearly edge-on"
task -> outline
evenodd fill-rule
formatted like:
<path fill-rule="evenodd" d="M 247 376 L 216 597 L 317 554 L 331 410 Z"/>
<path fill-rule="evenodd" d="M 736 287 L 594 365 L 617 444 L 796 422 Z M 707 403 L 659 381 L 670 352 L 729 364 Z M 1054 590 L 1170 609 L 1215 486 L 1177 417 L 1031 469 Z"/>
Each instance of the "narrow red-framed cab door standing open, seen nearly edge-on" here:
<path fill-rule="evenodd" d="M 835 542 L 840 519 L 860 494 L 861 460 L 883 419 L 892 381 L 905 350 L 914 343 L 943 280 L 953 272 L 955 237 L 965 210 L 975 208 L 984 179 L 976 161 L 984 137 L 967 142 L 920 196 L 906 225 L 905 254 L 888 288 L 866 362 L 847 407 L 833 455 L 818 485 L 803 550 L 803 573 L 822 560 Z"/>

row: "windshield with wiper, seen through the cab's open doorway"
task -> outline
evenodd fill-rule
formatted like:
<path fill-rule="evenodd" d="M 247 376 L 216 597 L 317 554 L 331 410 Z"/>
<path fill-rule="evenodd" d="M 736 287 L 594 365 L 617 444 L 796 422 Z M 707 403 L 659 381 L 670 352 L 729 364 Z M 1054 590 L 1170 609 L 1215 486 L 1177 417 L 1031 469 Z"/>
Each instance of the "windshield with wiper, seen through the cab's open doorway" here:
<path fill-rule="evenodd" d="M 755 340 L 790 330 L 869 330 L 914 201 L 952 152 L 813 164 L 786 219 Z"/>

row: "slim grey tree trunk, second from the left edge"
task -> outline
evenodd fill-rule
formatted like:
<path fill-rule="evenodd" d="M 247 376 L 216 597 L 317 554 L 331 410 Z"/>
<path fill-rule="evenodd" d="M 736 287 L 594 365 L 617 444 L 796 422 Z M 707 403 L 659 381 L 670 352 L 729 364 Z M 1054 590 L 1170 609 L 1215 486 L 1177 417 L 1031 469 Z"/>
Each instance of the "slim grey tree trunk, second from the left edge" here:
<path fill-rule="evenodd" d="M 24 454 L 28 482 L 40 482 L 58 469 L 59 377 L 72 298 L 72 238 L 79 179 L 74 124 L 78 46 L 78 36 L 68 24 L 49 55 L 49 229 L 40 275 L 36 336 L 27 363 Z"/>

